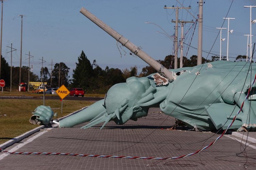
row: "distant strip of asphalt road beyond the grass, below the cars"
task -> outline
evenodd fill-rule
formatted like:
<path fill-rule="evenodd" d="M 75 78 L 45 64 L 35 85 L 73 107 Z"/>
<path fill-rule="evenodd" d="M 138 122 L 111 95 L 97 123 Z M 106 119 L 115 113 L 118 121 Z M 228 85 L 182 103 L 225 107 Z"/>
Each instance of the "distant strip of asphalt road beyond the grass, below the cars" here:
<path fill-rule="evenodd" d="M 43 96 L 0 96 L 1 99 L 43 99 Z M 60 100 L 59 96 L 45 96 L 45 99 L 47 100 Z M 99 101 L 101 97 L 73 97 L 73 96 L 67 96 L 64 98 L 65 100 L 85 100 L 85 101 Z"/>

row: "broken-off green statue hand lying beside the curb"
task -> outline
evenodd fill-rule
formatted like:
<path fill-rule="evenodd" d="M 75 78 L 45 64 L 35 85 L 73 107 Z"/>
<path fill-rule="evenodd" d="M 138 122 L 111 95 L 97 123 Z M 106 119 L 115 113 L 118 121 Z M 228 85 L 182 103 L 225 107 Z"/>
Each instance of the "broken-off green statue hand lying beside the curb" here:
<path fill-rule="evenodd" d="M 53 112 L 50 106 L 38 106 L 35 109 L 35 112 L 32 113 L 33 116 L 29 119 L 29 122 L 32 124 L 44 124 L 48 125 L 52 119 Z"/>

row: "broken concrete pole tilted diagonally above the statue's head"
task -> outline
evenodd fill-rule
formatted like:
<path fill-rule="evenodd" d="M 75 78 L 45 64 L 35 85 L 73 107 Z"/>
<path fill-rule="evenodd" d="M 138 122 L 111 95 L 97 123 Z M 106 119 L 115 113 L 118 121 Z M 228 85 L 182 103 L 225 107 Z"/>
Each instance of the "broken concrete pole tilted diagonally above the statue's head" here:
<path fill-rule="evenodd" d="M 110 28 L 107 24 L 105 24 L 99 18 L 95 17 L 93 14 L 91 14 L 85 8 L 81 8 L 80 13 L 82 13 L 84 16 L 86 16 L 88 19 L 90 19 L 92 22 L 94 22 L 97 26 L 99 26 L 101 29 L 103 29 L 105 32 L 107 32 L 110 36 L 115 38 L 119 43 L 122 44 L 122 46 L 126 47 L 132 53 L 134 53 L 135 55 L 140 57 L 143 61 L 148 63 L 150 66 L 152 66 L 157 72 L 160 72 L 161 74 L 163 74 L 163 76 L 166 77 L 167 79 L 173 80 L 172 72 L 169 71 L 167 68 L 165 68 L 160 63 L 158 63 L 157 61 L 155 61 L 147 53 L 145 53 L 143 50 L 141 50 L 141 48 L 135 46 L 128 39 L 126 39 L 122 35 L 118 34 L 115 30 Z"/>

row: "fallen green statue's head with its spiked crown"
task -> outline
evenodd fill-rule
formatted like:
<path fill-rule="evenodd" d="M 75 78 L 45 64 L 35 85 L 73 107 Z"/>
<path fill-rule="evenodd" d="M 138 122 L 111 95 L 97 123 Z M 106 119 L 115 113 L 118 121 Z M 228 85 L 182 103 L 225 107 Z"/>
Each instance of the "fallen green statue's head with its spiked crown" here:
<path fill-rule="evenodd" d="M 145 77 L 128 78 L 126 83 L 118 83 L 108 90 L 103 103 L 104 109 L 82 128 L 105 122 L 102 129 L 110 120 L 124 124 L 130 119 L 136 121 L 147 116 L 149 107 L 163 100 L 156 92 L 153 80 Z"/>

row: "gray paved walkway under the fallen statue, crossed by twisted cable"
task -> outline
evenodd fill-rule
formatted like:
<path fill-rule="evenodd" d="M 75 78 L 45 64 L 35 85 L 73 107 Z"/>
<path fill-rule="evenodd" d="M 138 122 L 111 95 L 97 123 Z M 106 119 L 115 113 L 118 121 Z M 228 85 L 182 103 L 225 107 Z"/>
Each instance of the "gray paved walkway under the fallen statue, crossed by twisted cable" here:
<path fill-rule="evenodd" d="M 136 122 L 130 120 L 124 125 L 109 122 L 102 130 L 100 125 L 80 129 L 85 124 L 44 128 L 5 150 L 166 158 L 193 153 L 220 136 L 212 132 L 168 130 L 175 119 L 159 113 L 158 108 Z M 1 152 L 0 169 L 256 169 L 255 137 L 255 132 L 233 132 L 198 154 L 170 160 Z"/>

